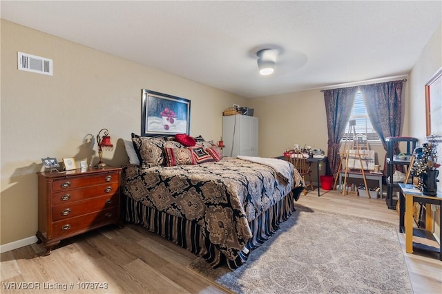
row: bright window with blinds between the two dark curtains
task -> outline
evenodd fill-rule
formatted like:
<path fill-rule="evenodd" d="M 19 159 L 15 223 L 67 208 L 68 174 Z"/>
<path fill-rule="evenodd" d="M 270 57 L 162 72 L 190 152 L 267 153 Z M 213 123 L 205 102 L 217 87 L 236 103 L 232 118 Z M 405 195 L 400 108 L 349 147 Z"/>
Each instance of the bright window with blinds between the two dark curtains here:
<path fill-rule="evenodd" d="M 349 129 L 349 123 L 352 120 L 356 121 L 354 130 L 353 127 Z M 350 116 L 349 122 L 347 122 L 347 125 L 345 126 L 345 134 L 341 142 L 345 142 L 345 140 L 353 141 L 354 132 L 356 132 L 356 135 L 363 134 L 364 136 L 366 136 L 368 142 L 381 143 L 381 138 L 379 138 L 378 134 L 374 131 L 372 123 L 369 120 L 361 91 L 358 91 L 356 93 L 352 114 Z"/>

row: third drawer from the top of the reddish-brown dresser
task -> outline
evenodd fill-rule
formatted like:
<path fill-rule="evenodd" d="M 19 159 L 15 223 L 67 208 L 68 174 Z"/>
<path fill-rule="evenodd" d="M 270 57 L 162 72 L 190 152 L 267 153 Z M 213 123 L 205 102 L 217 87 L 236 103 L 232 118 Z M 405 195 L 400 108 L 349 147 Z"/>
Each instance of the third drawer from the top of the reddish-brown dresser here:
<path fill-rule="evenodd" d="M 110 195 L 57 205 L 52 208 L 52 220 L 64 220 L 75 216 L 81 216 L 86 213 L 108 209 L 118 205 L 118 201 L 118 195 Z"/>

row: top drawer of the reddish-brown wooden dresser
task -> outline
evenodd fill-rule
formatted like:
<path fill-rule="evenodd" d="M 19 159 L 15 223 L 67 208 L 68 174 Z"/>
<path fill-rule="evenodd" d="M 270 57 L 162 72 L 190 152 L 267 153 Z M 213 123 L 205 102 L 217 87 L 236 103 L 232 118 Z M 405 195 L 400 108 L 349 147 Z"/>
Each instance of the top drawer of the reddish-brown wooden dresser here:
<path fill-rule="evenodd" d="M 70 177 L 54 180 L 52 183 L 53 191 L 66 191 L 70 189 L 78 189 L 93 185 L 101 185 L 111 182 L 118 182 L 117 173 L 99 174 L 97 176 L 88 177 Z"/>

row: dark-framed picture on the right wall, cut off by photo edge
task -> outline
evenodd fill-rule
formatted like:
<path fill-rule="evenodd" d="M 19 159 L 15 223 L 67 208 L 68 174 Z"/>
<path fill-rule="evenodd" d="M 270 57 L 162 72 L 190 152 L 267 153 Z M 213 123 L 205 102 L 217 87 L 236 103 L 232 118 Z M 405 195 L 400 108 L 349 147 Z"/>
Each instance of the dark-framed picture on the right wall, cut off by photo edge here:
<path fill-rule="evenodd" d="M 425 84 L 427 136 L 442 136 L 442 67 Z"/>

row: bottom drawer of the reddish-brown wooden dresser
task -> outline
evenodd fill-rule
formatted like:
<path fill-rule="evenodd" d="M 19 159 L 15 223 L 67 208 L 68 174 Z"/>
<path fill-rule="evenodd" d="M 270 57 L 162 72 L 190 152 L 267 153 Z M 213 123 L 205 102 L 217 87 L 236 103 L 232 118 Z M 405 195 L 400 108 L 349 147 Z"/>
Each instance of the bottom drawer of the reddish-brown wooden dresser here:
<path fill-rule="evenodd" d="M 102 223 L 117 222 L 118 207 L 89 213 L 86 216 L 77 216 L 76 218 L 69 218 L 67 220 L 60 220 L 52 224 L 52 236 L 58 237 L 75 233 L 75 231 L 87 231 L 89 227 L 97 226 Z"/>

